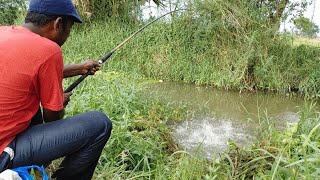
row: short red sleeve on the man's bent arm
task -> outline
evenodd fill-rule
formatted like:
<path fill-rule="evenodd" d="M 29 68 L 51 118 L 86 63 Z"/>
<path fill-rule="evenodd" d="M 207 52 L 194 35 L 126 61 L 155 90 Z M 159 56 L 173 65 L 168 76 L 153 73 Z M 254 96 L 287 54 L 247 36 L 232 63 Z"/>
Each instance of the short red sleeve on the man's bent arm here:
<path fill-rule="evenodd" d="M 52 111 L 61 111 L 63 107 L 63 57 L 59 51 L 51 55 L 38 72 L 41 105 Z"/>

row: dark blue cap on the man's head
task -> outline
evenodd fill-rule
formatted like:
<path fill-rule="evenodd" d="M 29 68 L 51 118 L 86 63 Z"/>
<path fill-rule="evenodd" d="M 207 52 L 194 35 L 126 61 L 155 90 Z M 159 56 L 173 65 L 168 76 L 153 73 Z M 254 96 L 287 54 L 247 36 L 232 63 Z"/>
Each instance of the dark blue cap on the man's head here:
<path fill-rule="evenodd" d="M 71 0 L 31 0 L 29 11 L 53 16 L 72 16 L 75 22 L 82 23 Z"/>

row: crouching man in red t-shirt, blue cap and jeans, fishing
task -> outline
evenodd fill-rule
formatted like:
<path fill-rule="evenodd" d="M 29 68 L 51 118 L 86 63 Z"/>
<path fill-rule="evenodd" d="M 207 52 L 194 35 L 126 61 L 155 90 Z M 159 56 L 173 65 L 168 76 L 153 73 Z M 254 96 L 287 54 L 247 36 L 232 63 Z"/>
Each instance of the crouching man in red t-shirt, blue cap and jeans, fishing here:
<path fill-rule="evenodd" d="M 21 27 L 0 27 L 0 164 L 9 159 L 5 168 L 47 165 L 65 156 L 53 178 L 92 178 L 112 123 L 100 112 L 62 119 L 71 96 L 63 93 L 62 79 L 99 69 L 91 60 L 63 66 L 60 46 L 74 22 L 82 20 L 71 0 L 32 0 Z M 40 104 L 43 119 L 37 114 Z M 45 123 L 30 124 L 39 118 Z"/>

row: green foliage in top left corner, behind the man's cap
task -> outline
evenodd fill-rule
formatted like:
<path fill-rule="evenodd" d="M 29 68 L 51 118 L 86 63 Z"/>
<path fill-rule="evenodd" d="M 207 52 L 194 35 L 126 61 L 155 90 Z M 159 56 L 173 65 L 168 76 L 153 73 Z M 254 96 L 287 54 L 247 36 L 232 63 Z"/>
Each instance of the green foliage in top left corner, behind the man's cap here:
<path fill-rule="evenodd" d="M 24 0 L 0 0 L 0 25 L 12 25 L 25 10 Z"/>

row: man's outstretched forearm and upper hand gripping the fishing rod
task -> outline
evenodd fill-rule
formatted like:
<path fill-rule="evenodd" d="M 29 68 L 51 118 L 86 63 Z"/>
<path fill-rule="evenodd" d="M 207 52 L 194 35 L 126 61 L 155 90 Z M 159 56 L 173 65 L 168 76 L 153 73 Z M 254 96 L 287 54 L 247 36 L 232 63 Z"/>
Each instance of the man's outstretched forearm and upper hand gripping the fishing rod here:
<path fill-rule="evenodd" d="M 98 61 L 86 60 L 80 64 L 65 65 L 63 68 L 63 77 L 73 77 L 78 75 L 85 75 L 90 72 L 90 75 L 94 75 L 96 71 L 100 69 Z"/>

